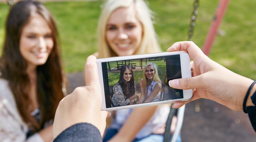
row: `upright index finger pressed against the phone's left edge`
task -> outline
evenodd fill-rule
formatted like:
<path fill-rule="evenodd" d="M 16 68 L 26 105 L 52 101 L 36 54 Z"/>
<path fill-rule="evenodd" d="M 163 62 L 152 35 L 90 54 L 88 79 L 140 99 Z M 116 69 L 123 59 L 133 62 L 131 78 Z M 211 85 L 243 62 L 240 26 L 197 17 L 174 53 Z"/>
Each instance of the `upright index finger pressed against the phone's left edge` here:
<path fill-rule="evenodd" d="M 98 86 L 99 76 L 96 64 L 96 57 L 91 55 L 86 59 L 84 69 L 84 80 L 88 86 Z"/>

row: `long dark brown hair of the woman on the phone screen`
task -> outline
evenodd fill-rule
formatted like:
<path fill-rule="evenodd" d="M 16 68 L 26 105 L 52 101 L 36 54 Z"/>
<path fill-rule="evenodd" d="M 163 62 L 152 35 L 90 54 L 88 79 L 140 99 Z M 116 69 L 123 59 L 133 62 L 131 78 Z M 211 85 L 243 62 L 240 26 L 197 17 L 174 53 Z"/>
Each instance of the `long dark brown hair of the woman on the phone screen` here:
<path fill-rule="evenodd" d="M 128 84 L 127 84 L 128 90 L 129 90 L 128 94 L 126 93 L 127 92 L 126 80 L 124 79 L 124 73 L 126 69 L 129 69 L 131 71 L 131 79 L 130 81 L 128 81 Z M 124 65 L 121 67 L 119 81 L 116 84 L 119 84 L 121 86 L 122 92 L 126 98 L 129 98 L 130 96 L 135 94 L 134 74 L 130 66 Z"/>

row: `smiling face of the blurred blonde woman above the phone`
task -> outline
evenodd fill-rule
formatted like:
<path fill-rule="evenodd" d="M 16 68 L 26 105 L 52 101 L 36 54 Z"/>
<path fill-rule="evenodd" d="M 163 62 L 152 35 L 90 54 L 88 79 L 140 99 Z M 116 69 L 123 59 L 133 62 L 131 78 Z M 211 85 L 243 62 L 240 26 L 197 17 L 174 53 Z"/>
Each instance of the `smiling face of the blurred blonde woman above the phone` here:
<path fill-rule="evenodd" d="M 133 55 L 140 47 L 142 24 L 133 6 L 113 11 L 106 25 L 106 40 L 117 56 Z"/>

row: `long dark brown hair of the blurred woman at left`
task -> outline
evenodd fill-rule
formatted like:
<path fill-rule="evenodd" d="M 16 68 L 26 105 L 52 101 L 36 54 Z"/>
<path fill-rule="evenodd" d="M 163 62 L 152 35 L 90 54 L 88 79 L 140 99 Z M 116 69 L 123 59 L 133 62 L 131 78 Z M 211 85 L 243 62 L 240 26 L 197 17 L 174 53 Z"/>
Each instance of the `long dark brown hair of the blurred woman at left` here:
<path fill-rule="evenodd" d="M 54 46 L 45 64 L 36 67 L 36 94 L 40 108 L 40 120 L 36 121 L 29 106 L 30 79 L 26 72 L 27 62 L 19 50 L 23 27 L 33 13 L 41 15 L 52 30 Z M 1 78 L 9 82 L 18 111 L 24 122 L 34 131 L 43 128 L 44 123 L 53 119 L 58 103 L 63 98 L 63 76 L 58 51 L 57 28 L 51 13 L 37 1 L 24 0 L 15 4 L 7 17 L 6 33 L 2 56 L 0 57 Z"/>

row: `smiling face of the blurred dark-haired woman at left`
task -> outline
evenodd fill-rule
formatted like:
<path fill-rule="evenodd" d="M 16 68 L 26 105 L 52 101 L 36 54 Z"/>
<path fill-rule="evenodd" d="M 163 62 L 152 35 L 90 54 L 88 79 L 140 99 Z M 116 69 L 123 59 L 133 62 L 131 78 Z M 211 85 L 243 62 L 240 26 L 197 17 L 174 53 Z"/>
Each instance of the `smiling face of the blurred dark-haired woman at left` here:
<path fill-rule="evenodd" d="M 28 67 L 46 62 L 54 46 L 52 30 L 42 16 L 35 13 L 23 27 L 20 36 L 20 53 Z"/>

